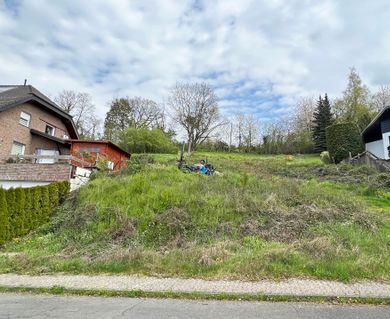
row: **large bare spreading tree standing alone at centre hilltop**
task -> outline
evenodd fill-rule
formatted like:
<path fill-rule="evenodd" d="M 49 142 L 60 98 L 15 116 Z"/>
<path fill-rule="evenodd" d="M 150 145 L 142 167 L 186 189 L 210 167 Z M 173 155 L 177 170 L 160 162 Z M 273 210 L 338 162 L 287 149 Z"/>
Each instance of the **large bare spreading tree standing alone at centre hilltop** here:
<path fill-rule="evenodd" d="M 207 83 L 177 83 L 168 98 L 173 119 L 187 134 L 188 153 L 223 125 L 217 96 Z"/>

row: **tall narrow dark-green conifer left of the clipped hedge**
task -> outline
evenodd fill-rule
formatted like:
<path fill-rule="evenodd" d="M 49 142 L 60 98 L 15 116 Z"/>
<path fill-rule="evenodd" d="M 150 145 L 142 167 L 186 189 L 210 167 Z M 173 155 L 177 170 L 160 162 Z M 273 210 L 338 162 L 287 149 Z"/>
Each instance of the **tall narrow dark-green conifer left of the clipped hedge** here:
<path fill-rule="evenodd" d="M 318 153 L 327 150 L 326 144 L 326 128 L 333 122 L 332 111 L 328 99 L 325 94 L 324 99 L 321 96 L 317 102 L 317 109 L 314 112 L 313 120 L 313 141 L 314 150 Z"/>

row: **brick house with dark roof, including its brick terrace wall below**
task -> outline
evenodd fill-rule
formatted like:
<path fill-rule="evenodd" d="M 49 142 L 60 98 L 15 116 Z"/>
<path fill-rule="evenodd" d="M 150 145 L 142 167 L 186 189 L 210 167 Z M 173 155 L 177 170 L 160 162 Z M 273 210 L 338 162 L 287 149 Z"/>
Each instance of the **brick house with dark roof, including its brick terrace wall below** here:
<path fill-rule="evenodd" d="M 70 180 L 74 169 L 56 163 L 77 139 L 72 117 L 31 85 L 0 86 L 0 187 L 30 187 Z M 12 156 L 42 155 L 33 163 L 7 163 Z M 39 164 L 39 165 L 38 165 Z"/>

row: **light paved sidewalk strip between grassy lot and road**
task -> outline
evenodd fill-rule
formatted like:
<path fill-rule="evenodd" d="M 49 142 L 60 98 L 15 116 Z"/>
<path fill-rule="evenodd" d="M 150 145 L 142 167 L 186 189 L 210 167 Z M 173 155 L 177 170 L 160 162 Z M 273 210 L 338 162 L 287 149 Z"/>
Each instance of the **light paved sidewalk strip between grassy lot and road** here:
<path fill-rule="evenodd" d="M 373 297 L 390 298 L 390 282 L 360 281 L 344 284 L 337 281 L 288 279 L 282 281 L 262 280 L 257 282 L 202 280 L 180 278 L 155 278 L 141 276 L 110 275 L 43 275 L 27 276 L 0 274 L 3 287 L 62 286 L 70 289 L 143 290 L 155 292 L 203 292 L 230 294 L 327 296 L 327 297 Z"/>

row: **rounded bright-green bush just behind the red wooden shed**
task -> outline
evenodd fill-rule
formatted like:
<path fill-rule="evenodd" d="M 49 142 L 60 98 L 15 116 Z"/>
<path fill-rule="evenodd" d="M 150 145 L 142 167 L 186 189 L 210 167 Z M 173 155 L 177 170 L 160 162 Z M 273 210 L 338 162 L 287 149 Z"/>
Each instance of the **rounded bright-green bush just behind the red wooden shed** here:
<path fill-rule="evenodd" d="M 175 144 L 159 129 L 128 128 L 119 145 L 129 153 L 174 153 Z"/>

